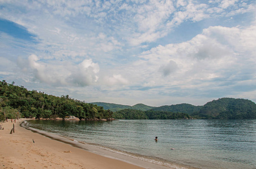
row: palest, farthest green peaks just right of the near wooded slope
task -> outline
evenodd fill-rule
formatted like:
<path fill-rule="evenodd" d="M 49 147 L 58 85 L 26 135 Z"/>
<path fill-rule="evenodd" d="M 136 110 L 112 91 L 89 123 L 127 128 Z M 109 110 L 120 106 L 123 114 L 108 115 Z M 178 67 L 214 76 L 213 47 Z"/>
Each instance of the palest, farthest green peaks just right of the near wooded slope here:
<path fill-rule="evenodd" d="M 153 106 L 148 106 L 148 105 L 144 105 L 144 104 L 136 104 L 134 106 L 114 104 L 114 103 L 104 103 L 104 102 L 93 102 L 91 104 L 95 104 L 97 106 L 103 106 L 103 108 L 105 110 L 109 109 L 113 112 L 117 112 L 117 111 L 123 110 L 123 109 L 134 109 L 134 110 L 146 111 L 146 110 L 150 110 L 152 108 L 155 108 Z"/>

